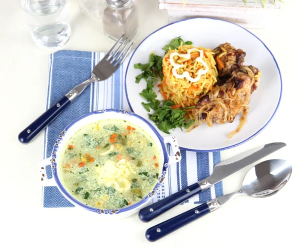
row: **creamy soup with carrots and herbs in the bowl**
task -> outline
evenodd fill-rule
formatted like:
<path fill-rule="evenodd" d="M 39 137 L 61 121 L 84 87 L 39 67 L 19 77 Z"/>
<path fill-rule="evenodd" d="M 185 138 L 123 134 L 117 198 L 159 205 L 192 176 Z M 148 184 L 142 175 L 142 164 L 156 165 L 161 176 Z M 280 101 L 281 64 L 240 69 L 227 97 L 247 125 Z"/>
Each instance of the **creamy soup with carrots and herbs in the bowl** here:
<path fill-rule="evenodd" d="M 99 120 L 78 131 L 60 157 L 61 179 L 80 202 L 121 208 L 149 193 L 160 172 L 160 153 L 149 134 L 122 119 Z"/>

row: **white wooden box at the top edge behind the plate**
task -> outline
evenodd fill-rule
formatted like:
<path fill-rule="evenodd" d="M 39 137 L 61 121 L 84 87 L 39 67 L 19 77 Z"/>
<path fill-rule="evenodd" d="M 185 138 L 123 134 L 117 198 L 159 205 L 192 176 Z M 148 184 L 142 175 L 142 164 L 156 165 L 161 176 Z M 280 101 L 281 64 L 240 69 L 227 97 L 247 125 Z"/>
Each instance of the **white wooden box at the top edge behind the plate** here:
<path fill-rule="evenodd" d="M 174 22 L 193 17 L 210 17 L 227 20 L 246 28 L 263 28 L 270 15 L 278 15 L 280 1 L 275 5 L 267 0 L 265 7 L 260 0 L 159 0 L 159 9 L 167 10 L 168 21 Z"/>

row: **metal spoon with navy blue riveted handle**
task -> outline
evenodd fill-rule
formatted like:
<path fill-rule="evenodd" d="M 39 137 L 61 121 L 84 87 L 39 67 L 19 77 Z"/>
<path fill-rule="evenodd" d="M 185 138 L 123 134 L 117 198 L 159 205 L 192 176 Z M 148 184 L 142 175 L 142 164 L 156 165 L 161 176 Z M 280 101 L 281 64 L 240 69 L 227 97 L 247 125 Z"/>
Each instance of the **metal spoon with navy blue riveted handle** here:
<path fill-rule="evenodd" d="M 221 207 L 228 200 L 238 195 L 252 197 L 267 197 L 277 193 L 288 181 L 291 165 L 283 159 L 263 161 L 247 171 L 239 190 L 207 201 L 173 218 L 156 224 L 146 230 L 145 236 L 149 241 L 155 241 L 189 222 Z"/>

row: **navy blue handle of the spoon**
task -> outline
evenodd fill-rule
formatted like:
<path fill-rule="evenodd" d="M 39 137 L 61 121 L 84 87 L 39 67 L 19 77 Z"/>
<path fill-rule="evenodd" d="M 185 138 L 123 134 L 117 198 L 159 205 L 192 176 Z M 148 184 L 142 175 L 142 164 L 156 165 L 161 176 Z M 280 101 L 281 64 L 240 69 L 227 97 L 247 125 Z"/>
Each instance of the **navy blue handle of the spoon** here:
<path fill-rule="evenodd" d="M 203 203 L 173 218 L 170 218 L 166 221 L 163 221 L 159 224 L 148 228 L 146 230 L 145 236 L 150 242 L 156 241 L 157 239 L 173 232 L 176 229 L 179 229 L 183 225 L 186 225 L 209 212 L 210 209 L 207 203 Z"/>

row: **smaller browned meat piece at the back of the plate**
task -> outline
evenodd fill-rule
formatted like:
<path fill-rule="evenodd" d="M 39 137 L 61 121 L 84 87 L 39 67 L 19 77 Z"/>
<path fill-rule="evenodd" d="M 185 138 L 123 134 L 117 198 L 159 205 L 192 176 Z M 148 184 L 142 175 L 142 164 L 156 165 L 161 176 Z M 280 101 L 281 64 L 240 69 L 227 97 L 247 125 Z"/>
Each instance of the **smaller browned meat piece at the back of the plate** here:
<path fill-rule="evenodd" d="M 233 70 L 243 66 L 246 52 L 242 49 L 235 49 L 230 43 L 222 43 L 212 51 L 220 79 L 229 78 Z"/>

